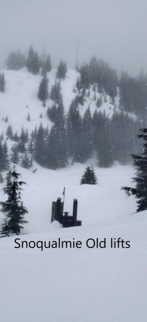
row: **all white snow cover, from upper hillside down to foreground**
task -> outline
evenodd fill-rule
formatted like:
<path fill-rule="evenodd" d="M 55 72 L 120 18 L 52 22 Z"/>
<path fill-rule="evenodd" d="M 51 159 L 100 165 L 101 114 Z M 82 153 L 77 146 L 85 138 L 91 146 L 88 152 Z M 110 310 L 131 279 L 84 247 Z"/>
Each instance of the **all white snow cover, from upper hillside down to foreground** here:
<path fill-rule="evenodd" d="M 49 73 L 49 90 L 56 69 Z M 31 131 L 35 124 L 51 126 L 46 108 L 37 98 L 41 75 L 26 70 L 6 71 L 6 93 L 0 93 L 0 125 L 4 137 L 8 124 L 20 132 L 22 126 Z M 71 100 L 78 73 L 68 70 L 61 82 L 65 112 Z M 99 96 L 99 93 L 97 93 Z M 118 100 L 117 100 L 118 101 Z M 109 98 L 105 103 L 109 114 Z M 28 107 L 26 108 L 26 106 Z M 89 105 L 85 102 L 81 113 Z M 108 105 L 108 106 L 107 106 Z M 91 101 L 94 112 L 96 103 Z M 112 108 L 112 107 L 111 107 Z M 104 110 L 104 105 L 102 105 Z M 31 121 L 26 120 L 30 113 Z M 43 114 L 42 119 L 39 118 Z M 8 115 L 8 123 L 3 118 Z M 12 144 L 8 141 L 8 146 Z M 98 185 L 80 185 L 87 165 L 93 165 Z M 32 170 L 38 169 L 34 174 Z M 146 322 L 146 250 L 147 212 L 133 214 L 136 204 L 127 198 L 121 186 L 130 185 L 134 170 L 118 163 L 108 169 L 98 168 L 95 158 L 84 165 L 68 165 L 48 170 L 35 162 L 29 170 L 17 166 L 22 173 L 23 201 L 28 208 L 21 240 L 80 240 L 81 249 L 15 249 L 15 238 L 0 238 L 1 291 L 0 316 L 5 322 Z M 6 173 L 3 174 L 5 177 Z M 1 188 L 5 182 L 1 184 Z M 81 227 L 62 228 L 50 224 L 51 203 L 63 197 L 64 210 L 72 212 L 73 198 L 78 198 Z M 0 192 L 0 200 L 6 196 Z M 0 213 L 0 224 L 3 221 Z M 130 241 L 130 248 L 111 249 L 111 238 Z M 106 249 L 86 246 L 89 238 L 106 238 Z M 113 239 L 114 240 L 114 239 Z"/>

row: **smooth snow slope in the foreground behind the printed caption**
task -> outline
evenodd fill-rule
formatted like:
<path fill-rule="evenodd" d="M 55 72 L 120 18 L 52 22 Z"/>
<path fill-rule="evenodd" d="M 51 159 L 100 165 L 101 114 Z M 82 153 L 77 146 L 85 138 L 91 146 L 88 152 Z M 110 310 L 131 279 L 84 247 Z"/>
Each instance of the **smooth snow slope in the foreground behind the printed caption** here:
<path fill-rule="evenodd" d="M 54 223 L 47 233 L 19 236 L 28 243 L 75 238 L 81 249 L 15 249 L 16 237 L 2 238 L 2 320 L 146 322 L 146 229 L 142 212 L 77 228 Z M 110 249 L 118 237 L 131 247 Z M 106 249 L 88 249 L 89 238 L 106 238 Z"/>

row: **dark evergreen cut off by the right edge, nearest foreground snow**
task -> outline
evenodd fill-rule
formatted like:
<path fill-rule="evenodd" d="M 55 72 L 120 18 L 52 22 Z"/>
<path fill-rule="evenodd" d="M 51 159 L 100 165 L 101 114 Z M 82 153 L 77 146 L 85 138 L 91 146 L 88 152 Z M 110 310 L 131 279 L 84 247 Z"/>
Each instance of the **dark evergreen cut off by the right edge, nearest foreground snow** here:
<path fill-rule="evenodd" d="M 137 199 L 137 212 L 147 209 L 147 128 L 140 129 L 141 134 L 137 137 L 144 140 L 141 144 L 143 146 L 142 152 L 139 154 L 132 154 L 133 165 L 136 168 L 136 177 L 132 178 L 135 183 L 135 188 L 122 187 L 128 196 L 134 195 Z"/>

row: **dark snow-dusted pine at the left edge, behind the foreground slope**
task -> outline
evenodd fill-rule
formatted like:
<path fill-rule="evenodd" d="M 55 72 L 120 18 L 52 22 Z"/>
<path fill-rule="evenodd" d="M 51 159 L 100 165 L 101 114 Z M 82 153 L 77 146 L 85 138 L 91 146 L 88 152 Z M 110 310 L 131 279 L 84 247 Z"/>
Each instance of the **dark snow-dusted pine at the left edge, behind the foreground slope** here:
<path fill-rule="evenodd" d="M 28 213 L 26 207 L 23 206 L 21 199 L 21 188 L 26 183 L 18 181 L 20 174 L 16 172 L 16 167 L 13 167 L 11 173 L 12 182 L 3 188 L 4 194 L 8 195 L 8 199 L 4 202 L 1 201 L 1 212 L 5 214 L 4 223 L 2 225 L 1 234 L 8 236 L 10 233 L 19 234 L 21 229 L 24 229 L 24 224 L 28 221 L 25 220 L 25 214 Z"/>

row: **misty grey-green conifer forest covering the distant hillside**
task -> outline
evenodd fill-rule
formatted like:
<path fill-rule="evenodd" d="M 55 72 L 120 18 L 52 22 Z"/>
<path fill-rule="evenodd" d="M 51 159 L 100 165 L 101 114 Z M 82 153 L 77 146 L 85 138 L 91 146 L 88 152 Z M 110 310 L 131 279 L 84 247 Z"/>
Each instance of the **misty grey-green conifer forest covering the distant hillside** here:
<path fill-rule="evenodd" d="M 52 127 L 50 130 L 44 128 L 43 122 L 40 122 L 40 126 L 38 128 L 36 126 L 31 135 L 24 128 L 18 135 L 9 124 L 6 138 L 14 141 L 14 144 L 9 155 L 7 140 L 4 139 L 4 133 L 1 134 L 0 172 L 9 170 L 10 160 L 29 168 L 34 159 L 43 167 L 58 169 L 65 167 L 69 162 L 84 163 L 94 152 L 100 167 L 110 167 L 115 160 L 123 165 L 130 162 L 130 154 L 138 152 L 136 134 L 138 129 L 144 126 L 146 116 L 147 74 L 144 74 L 142 69 L 137 77 L 131 77 L 124 71 L 118 77 L 116 70 L 104 60 L 97 60 L 96 57 L 92 57 L 89 64 L 76 66 L 80 76 L 76 86 L 73 87 L 75 99 L 65 115 L 60 81 L 66 77 L 66 62 L 60 60 L 56 81 L 50 93 L 47 74 L 52 69 L 50 55 L 39 57 L 32 46 L 27 57 L 20 50 L 10 52 L 7 68 L 19 70 L 24 66 L 33 74 L 41 73 L 42 78 L 39 88 L 36 89 L 36 95 L 44 107 L 47 98 L 53 101 L 52 106 L 46 109 Z M 3 73 L 0 76 L 0 90 L 2 87 L 4 93 L 5 75 Z M 111 118 L 99 109 L 104 102 L 107 102 L 107 95 L 114 105 Z M 90 96 L 91 100 L 96 101 L 97 108 L 92 115 L 88 107 L 82 117 L 80 106 L 83 106 Z M 119 111 L 115 106 L 116 96 L 119 96 Z M 135 114 L 134 117 L 131 112 Z M 41 118 L 42 114 L 40 121 Z M 31 120 L 29 113 L 27 120 L 28 122 Z M 5 122 L 8 122 L 8 118 Z"/>

